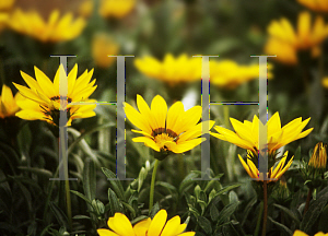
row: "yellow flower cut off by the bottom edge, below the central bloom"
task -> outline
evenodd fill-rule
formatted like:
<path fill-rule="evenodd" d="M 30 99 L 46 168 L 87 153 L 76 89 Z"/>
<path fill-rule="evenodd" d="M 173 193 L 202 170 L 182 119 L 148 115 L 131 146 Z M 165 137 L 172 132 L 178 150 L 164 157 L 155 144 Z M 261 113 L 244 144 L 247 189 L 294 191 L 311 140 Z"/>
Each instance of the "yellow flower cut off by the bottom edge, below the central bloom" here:
<path fill-rule="evenodd" d="M 194 236 L 195 232 L 183 233 L 187 225 L 180 224 L 180 217 L 174 216 L 166 223 L 167 213 L 161 210 L 151 220 L 150 217 L 137 223 L 133 227 L 129 219 L 121 214 L 115 213 L 109 217 L 107 224 L 112 229 L 99 228 L 99 236 Z"/>

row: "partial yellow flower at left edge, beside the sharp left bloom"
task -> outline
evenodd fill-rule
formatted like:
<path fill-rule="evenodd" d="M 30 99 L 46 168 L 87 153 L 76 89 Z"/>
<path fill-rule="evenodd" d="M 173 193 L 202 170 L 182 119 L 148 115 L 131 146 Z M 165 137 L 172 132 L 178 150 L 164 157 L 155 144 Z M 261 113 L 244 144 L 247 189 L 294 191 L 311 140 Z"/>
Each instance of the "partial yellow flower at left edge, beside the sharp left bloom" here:
<path fill-rule="evenodd" d="M 20 110 L 17 106 L 17 101 L 23 101 L 23 96 L 16 93 L 15 96 L 12 95 L 10 87 L 2 85 L 2 92 L 0 96 L 0 118 L 13 117 L 15 113 Z"/>

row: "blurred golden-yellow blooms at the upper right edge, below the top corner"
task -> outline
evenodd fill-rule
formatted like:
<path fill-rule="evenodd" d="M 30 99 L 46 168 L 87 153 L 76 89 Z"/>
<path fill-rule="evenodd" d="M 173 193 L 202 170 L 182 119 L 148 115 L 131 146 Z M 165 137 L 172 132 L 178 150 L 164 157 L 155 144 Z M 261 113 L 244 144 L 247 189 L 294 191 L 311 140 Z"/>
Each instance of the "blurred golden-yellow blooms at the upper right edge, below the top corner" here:
<path fill-rule="evenodd" d="M 328 36 L 328 25 L 324 19 L 317 16 L 312 26 L 311 14 L 302 12 L 298 15 L 297 32 L 285 19 L 273 21 L 268 26 L 269 39 L 265 46 L 268 55 L 277 55 L 277 60 L 289 63 L 297 63 L 297 51 L 312 49 L 312 56 L 319 54 L 317 46 Z"/>

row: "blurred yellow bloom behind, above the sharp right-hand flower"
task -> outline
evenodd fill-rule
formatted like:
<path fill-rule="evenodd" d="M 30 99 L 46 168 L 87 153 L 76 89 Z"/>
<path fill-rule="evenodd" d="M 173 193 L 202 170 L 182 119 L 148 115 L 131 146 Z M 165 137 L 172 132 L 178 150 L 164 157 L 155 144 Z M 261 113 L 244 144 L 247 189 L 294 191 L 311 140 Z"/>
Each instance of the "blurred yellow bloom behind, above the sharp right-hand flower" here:
<path fill-rule="evenodd" d="M 272 79 L 272 64 L 268 63 L 268 79 Z M 239 66 L 232 60 L 210 61 L 211 83 L 220 87 L 235 88 L 236 86 L 259 78 L 259 66 Z"/>

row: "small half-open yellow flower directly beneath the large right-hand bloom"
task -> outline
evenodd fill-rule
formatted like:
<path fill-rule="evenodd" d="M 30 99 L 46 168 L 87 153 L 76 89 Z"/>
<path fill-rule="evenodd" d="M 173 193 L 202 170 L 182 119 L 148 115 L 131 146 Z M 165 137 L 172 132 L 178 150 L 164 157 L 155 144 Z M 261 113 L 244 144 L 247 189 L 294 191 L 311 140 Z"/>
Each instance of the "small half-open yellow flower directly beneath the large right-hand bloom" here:
<path fill-rule="evenodd" d="M 288 157 L 289 152 L 286 151 L 282 158 L 280 160 L 280 162 L 278 163 L 278 165 L 276 167 L 271 167 L 269 173 L 267 173 L 267 177 L 268 178 L 273 178 L 276 179 L 274 181 L 277 181 L 292 165 L 293 163 L 293 158 L 294 156 L 289 161 L 288 164 L 285 164 L 285 160 Z M 247 172 L 247 174 L 250 176 L 250 178 L 258 178 L 259 177 L 259 170 L 256 167 L 256 165 L 251 162 L 250 157 L 248 157 L 249 155 L 251 155 L 248 151 L 247 154 L 247 163 L 245 163 L 245 161 L 243 160 L 243 157 L 238 154 L 239 161 L 242 163 L 242 165 L 244 166 L 245 170 Z M 284 165 L 285 164 L 285 165 Z M 269 180 L 271 181 L 271 180 Z"/>

